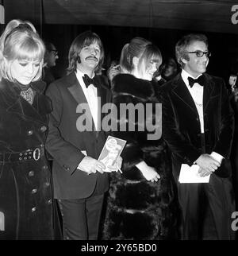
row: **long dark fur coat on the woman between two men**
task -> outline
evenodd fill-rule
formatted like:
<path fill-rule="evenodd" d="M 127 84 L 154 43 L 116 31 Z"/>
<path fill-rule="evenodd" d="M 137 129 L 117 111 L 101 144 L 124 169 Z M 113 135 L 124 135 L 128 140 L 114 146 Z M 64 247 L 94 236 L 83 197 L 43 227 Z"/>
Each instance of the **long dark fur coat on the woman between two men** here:
<path fill-rule="evenodd" d="M 159 103 L 151 82 L 120 74 L 113 79 L 113 103 Z M 119 112 L 119 111 L 118 111 Z M 118 114 L 118 113 L 117 113 Z M 155 123 L 155 109 L 143 120 Z M 135 131 L 113 132 L 127 141 L 121 153 L 122 174 L 111 173 L 103 239 L 172 239 L 175 238 L 175 203 L 171 179 L 171 161 L 163 139 L 148 140 L 149 131 L 139 131 L 135 122 L 117 115 L 117 123 L 133 122 Z M 147 126 L 145 126 L 147 127 Z M 152 183 L 144 178 L 136 164 L 145 161 L 161 178 Z"/>

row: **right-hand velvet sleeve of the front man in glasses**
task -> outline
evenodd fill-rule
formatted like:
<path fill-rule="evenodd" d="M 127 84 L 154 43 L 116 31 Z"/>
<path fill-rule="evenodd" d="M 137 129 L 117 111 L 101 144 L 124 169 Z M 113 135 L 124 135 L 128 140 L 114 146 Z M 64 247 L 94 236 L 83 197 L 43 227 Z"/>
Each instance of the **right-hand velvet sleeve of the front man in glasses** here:
<path fill-rule="evenodd" d="M 213 151 L 220 153 L 221 156 L 228 158 L 232 147 L 232 138 L 234 132 L 234 113 L 230 104 L 228 90 L 225 87 L 225 82 L 221 84 L 221 109 L 220 113 L 220 130 L 217 142 Z"/>

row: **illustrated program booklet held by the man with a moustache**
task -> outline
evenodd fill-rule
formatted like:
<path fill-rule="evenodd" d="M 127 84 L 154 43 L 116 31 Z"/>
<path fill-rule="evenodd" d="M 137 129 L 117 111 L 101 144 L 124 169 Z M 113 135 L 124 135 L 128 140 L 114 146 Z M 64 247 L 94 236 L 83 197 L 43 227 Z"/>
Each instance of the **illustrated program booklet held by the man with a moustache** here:
<path fill-rule="evenodd" d="M 98 157 L 98 161 L 102 161 L 102 163 L 106 165 L 104 172 L 110 173 L 110 169 L 107 167 L 116 163 L 117 158 L 121 155 L 121 152 L 125 147 L 125 144 L 126 141 L 122 140 L 121 138 L 108 136 L 105 145 L 103 146 L 102 152 Z"/>

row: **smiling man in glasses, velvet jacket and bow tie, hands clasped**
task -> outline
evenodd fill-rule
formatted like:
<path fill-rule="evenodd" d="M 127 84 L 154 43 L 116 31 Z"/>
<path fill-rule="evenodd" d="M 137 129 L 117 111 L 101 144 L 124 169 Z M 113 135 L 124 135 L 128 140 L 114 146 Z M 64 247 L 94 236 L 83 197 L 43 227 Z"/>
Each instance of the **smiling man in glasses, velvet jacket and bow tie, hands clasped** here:
<path fill-rule="evenodd" d="M 161 101 L 163 138 L 171 148 L 181 207 L 181 238 L 234 239 L 228 91 L 224 80 L 205 73 L 211 56 L 205 35 L 182 37 L 175 53 L 182 72 L 163 85 Z M 179 183 L 181 166 L 187 165 L 198 165 L 198 176 L 209 176 L 209 182 Z"/>

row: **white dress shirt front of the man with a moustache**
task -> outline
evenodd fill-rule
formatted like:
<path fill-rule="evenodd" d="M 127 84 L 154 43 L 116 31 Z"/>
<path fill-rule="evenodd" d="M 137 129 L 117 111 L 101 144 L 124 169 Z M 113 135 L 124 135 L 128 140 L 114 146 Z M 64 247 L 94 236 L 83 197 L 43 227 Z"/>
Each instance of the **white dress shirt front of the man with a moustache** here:
<path fill-rule="evenodd" d="M 84 73 L 79 71 L 79 69 L 77 69 L 75 74 L 79 81 L 80 86 L 83 89 L 83 93 L 89 105 L 90 112 L 94 120 L 95 130 L 98 130 L 98 89 L 94 87 L 93 84 L 90 84 L 89 87 L 86 88 L 86 85 L 83 82 Z"/>

